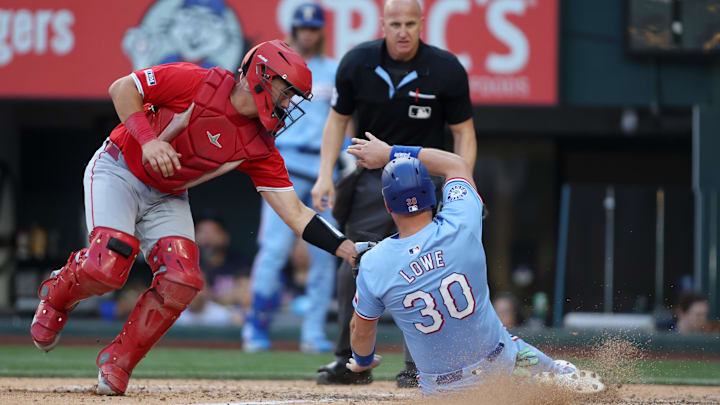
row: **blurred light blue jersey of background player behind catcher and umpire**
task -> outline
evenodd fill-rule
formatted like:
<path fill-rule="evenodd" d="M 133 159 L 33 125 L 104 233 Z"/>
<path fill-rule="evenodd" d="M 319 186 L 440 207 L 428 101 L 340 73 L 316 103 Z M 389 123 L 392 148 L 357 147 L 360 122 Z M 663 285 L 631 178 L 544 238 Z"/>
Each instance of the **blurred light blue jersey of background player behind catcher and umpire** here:
<path fill-rule="evenodd" d="M 275 140 L 290 173 L 316 178 L 320 170 L 320 146 L 330 98 L 335 87 L 337 61 L 316 56 L 307 61 L 313 77 L 313 98 L 300 107 L 305 115 Z"/>

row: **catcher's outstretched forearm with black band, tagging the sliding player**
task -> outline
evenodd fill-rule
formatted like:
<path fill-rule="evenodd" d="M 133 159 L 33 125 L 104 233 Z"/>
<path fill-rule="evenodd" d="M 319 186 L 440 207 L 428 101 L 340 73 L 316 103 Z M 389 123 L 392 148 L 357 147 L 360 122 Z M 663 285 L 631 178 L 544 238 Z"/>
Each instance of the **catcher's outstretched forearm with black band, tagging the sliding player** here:
<path fill-rule="evenodd" d="M 296 234 L 308 243 L 354 264 L 355 244 L 305 206 L 294 191 L 263 191 L 265 201 Z"/>

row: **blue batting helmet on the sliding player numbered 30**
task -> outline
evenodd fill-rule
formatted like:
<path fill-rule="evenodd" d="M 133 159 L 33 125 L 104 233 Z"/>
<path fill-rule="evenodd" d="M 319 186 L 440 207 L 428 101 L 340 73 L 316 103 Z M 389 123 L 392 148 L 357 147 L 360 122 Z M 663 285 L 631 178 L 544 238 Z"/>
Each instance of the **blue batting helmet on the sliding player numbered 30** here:
<path fill-rule="evenodd" d="M 390 212 L 410 214 L 437 205 L 435 185 L 420 160 L 413 157 L 393 159 L 382 174 L 383 197 Z"/>

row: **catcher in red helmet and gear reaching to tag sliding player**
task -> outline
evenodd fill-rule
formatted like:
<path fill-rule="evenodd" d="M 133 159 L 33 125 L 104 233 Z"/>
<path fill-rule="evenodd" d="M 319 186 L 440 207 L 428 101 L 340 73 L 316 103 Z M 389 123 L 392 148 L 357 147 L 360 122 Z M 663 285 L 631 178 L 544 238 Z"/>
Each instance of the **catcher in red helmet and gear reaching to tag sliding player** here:
<path fill-rule="evenodd" d="M 73 307 L 121 288 L 142 251 L 153 281 L 97 357 L 100 394 L 127 389 L 133 369 L 203 287 L 187 189 L 240 170 L 303 239 L 350 259 L 352 242 L 298 199 L 274 139 L 302 115 L 312 76 L 279 40 L 246 55 L 236 80 L 221 68 L 170 63 L 116 80 L 121 123 L 85 170 L 89 246 L 39 289 L 30 334 L 50 351 Z"/>

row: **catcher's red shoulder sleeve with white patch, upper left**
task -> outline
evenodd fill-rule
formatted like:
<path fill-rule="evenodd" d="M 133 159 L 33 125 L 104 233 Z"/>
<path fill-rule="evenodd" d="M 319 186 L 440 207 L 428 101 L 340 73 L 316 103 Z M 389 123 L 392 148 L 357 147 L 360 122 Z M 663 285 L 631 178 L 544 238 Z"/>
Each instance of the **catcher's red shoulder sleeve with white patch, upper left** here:
<path fill-rule="evenodd" d="M 140 69 L 132 78 L 145 103 L 185 109 L 206 73 L 207 69 L 181 62 Z"/>

